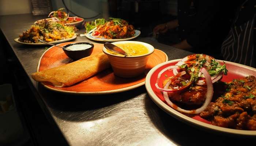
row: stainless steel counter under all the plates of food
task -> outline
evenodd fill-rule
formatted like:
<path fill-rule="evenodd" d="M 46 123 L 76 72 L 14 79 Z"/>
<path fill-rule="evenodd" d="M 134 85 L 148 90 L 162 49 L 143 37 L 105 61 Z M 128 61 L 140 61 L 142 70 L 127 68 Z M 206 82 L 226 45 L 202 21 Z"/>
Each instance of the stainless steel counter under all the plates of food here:
<path fill-rule="evenodd" d="M 33 22 L 45 17 L 31 14 L 1 16 L 0 28 L 26 72 L 27 81 L 45 116 L 63 134 L 69 145 L 230 145 L 244 142 L 244 139 L 222 137 L 174 119 L 150 99 L 144 85 L 101 96 L 65 95 L 45 89 L 30 77 L 36 71 L 45 46 L 14 42 L 14 38 Z M 79 34 L 83 32 L 84 29 L 78 31 Z M 74 41 L 93 42 L 79 35 Z M 169 60 L 191 54 L 152 41 L 151 38 L 139 37 L 134 41 L 150 43 L 164 51 Z"/>

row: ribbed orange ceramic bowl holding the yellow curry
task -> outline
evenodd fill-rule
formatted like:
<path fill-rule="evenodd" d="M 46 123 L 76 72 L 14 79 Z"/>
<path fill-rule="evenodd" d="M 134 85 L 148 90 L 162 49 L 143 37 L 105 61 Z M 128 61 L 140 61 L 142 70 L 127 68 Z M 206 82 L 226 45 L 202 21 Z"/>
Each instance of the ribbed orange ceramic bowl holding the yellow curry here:
<path fill-rule="evenodd" d="M 116 76 L 124 78 L 132 78 L 139 76 L 140 74 L 144 73 L 148 57 L 150 54 L 154 52 L 154 47 L 148 43 L 136 41 L 120 41 L 113 42 L 112 44 L 116 45 L 124 43 L 141 44 L 148 49 L 148 53 L 143 55 L 125 57 L 124 55 L 120 56 L 111 54 L 107 51 L 105 47 L 103 47 L 103 52 L 108 55 L 110 64 Z"/>

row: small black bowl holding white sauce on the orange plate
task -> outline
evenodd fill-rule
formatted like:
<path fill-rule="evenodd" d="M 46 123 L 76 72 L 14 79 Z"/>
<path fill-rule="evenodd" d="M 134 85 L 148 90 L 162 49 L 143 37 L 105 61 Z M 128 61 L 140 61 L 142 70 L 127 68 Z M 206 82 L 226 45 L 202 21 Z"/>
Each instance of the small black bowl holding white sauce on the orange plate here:
<path fill-rule="evenodd" d="M 67 48 L 69 46 L 73 45 L 78 45 L 78 44 L 87 44 L 91 45 L 90 48 L 83 49 L 83 50 L 68 50 L 68 49 L 63 49 L 64 53 L 71 59 L 73 60 L 79 60 L 81 58 L 90 56 L 91 53 L 93 52 L 94 45 L 92 43 L 87 43 L 87 42 L 79 42 L 79 43 L 71 43 L 68 45 L 63 46 L 64 48 Z"/>

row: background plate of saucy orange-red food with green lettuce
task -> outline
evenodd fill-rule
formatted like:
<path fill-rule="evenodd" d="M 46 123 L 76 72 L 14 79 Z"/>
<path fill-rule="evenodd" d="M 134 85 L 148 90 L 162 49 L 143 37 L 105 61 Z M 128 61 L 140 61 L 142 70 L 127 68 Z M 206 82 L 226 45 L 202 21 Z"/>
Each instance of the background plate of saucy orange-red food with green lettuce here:
<path fill-rule="evenodd" d="M 140 35 L 131 24 L 120 18 L 96 19 L 86 22 L 85 36 L 94 41 L 117 42 L 128 41 Z"/>

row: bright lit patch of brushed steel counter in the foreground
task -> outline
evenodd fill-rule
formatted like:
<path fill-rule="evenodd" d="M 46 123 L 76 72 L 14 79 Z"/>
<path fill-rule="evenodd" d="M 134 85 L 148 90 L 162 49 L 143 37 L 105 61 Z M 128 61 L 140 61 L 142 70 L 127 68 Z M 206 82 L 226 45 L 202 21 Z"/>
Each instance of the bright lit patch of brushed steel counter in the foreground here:
<path fill-rule="evenodd" d="M 174 145 L 151 121 L 148 114 L 152 114 L 149 111 L 154 109 L 146 109 L 148 107 L 144 106 L 145 98 L 147 98 L 146 93 L 143 93 L 124 102 L 83 111 L 82 115 L 79 114 L 79 120 L 76 121 L 73 121 L 75 113 L 65 117 L 64 120 L 54 118 L 71 142 L 70 145 L 74 146 L 81 143 L 94 146 Z M 151 101 L 149 98 L 147 100 Z M 151 102 L 151 104 L 154 103 Z M 57 116 L 61 117 L 62 113 Z"/>

